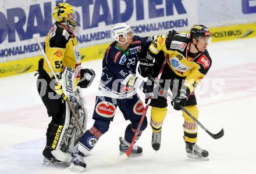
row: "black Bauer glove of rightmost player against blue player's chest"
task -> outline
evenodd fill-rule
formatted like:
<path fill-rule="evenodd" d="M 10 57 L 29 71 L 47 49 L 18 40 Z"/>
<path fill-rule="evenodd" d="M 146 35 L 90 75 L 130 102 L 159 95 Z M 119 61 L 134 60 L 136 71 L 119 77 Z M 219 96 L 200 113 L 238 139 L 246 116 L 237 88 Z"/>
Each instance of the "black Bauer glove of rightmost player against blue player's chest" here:
<path fill-rule="evenodd" d="M 148 77 L 148 75 L 153 74 L 153 66 L 153 60 L 141 59 L 140 65 L 138 66 L 138 73 L 140 73 L 142 77 Z"/>

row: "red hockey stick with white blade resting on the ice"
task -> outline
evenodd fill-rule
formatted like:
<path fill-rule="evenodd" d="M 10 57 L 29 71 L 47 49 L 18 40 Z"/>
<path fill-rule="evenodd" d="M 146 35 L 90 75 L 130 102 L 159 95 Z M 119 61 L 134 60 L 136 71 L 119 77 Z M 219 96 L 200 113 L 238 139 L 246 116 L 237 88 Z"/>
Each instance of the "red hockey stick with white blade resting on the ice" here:
<path fill-rule="evenodd" d="M 159 80 L 161 78 L 161 75 L 163 73 L 163 68 L 165 67 L 165 64 L 166 64 L 166 60 L 163 61 L 163 64 L 162 64 L 162 67 L 161 67 L 161 70 L 159 71 L 159 74 L 158 74 L 158 77 L 156 79 L 156 82 L 159 83 Z M 150 77 L 148 77 L 150 78 Z M 155 82 L 155 79 L 154 81 L 152 82 Z M 154 88 L 155 86 L 157 86 L 155 83 L 154 83 Z M 130 154 L 131 154 L 131 150 L 133 150 L 133 145 L 134 143 L 136 142 L 136 139 L 137 139 L 137 136 L 138 136 L 138 132 L 140 132 L 140 127 L 143 123 L 143 120 L 145 118 L 145 115 L 147 114 L 147 110 L 148 110 L 148 107 L 150 106 L 150 102 L 152 100 L 152 96 L 153 96 L 153 93 L 151 92 L 150 93 L 150 97 L 148 97 L 148 102 L 146 103 L 146 106 L 145 106 L 145 110 L 143 111 L 143 115 L 140 119 L 140 122 L 138 124 L 138 127 L 136 129 L 136 132 L 133 136 L 133 140 L 131 140 L 131 144 L 130 144 L 130 147 L 129 149 L 126 151 L 126 153 L 122 154 L 122 155 L 119 155 L 118 157 L 113 157 L 113 158 L 109 158 L 109 159 L 106 159 L 106 163 L 108 164 L 113 164 L 113 163 L 116 163 L 116 162 L 120 162 L 120 161 L 123 161 L 123 160 L 126 160 L 127 158 L 129 158 Z"/>

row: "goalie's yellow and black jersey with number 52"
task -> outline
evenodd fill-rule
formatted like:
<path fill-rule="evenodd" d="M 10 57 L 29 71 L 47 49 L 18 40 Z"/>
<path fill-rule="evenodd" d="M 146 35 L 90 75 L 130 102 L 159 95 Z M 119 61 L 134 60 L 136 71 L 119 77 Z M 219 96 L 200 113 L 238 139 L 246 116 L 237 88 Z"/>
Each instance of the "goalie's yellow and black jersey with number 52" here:
<path fill-rule="evenodd" d="M 45 54 L 58 77 L 65 67 L 70 67 L 76 70 L 76 82 L 79 82 L 81 59 L 77 39 L 72 32 L 54 24 L 45 40 Z M 44 70 L 54 78 L 47 63 L 44 63 Z"/>

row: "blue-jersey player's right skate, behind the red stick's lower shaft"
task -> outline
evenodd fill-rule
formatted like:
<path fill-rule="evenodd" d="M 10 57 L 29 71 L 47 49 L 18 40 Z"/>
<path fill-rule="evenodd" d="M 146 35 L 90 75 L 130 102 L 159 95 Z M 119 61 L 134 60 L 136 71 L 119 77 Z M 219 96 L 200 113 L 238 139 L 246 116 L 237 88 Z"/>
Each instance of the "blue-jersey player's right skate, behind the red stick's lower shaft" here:
<path fill-rule="evenodd" d="M 119 137 L 119 141 L 120 141 L 120 145 L 119 145 L 120 155 L 122 155 L 126 153 L 126 151 L 129 149 L 130 143 L 128 143 L 125 139 L 122 140 L 122 137 Z M 134 144 L 130 155 L 131 156 L 142 155 L 142 153 L 143 153 L 142 147 Z"/>

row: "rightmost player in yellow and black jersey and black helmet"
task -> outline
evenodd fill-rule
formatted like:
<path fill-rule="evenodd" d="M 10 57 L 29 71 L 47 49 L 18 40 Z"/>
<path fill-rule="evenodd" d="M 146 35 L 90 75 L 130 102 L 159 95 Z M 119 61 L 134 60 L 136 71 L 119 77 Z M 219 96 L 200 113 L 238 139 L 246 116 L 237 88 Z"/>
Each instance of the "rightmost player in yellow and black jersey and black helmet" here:
<path fill-rule="evenodd" d="M 141 60 L 138 68 L 143 77 L 148 74 L 157 77 L 163 60 L 166 60 L 160 84 L 165 89 L 172 90 L 174 99 L 171 104 L 175 110 L 181 110 L 180 106 L 184 106 L 197 119 L 198 108 L 194 90 L 211 67 L 212 60 L 206 49 L 210 38 L 208 28 L 203 25 L 194 25 L 190 34 L 170 31 L 166 35 L 160 35 L 152 42 L 147 59 Z M 159 90 L 157 97 L 150 103 L 150 124 L 153 132 L 151 143 L 156 151 L 161 145 L 162 124 L 167 112 L 166 96 Z M 184 111 L 182 114 L 187 157 L 208 160 L 208 151 L 196 144 L 197 124 Z"/>

